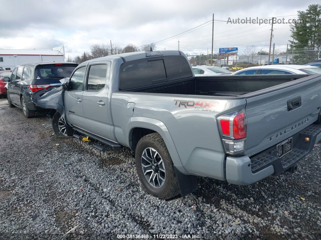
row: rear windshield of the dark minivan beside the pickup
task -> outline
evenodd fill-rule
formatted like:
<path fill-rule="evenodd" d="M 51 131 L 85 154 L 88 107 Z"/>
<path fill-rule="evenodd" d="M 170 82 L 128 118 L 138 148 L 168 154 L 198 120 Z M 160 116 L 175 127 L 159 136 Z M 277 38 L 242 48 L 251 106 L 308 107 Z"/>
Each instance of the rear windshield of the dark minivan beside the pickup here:
<path fill-rule="evenodd" d="M 69 78 L 76 67 L 77 64 L 74 63 L 40 64 L 35 69 L 34 79 Z"/>

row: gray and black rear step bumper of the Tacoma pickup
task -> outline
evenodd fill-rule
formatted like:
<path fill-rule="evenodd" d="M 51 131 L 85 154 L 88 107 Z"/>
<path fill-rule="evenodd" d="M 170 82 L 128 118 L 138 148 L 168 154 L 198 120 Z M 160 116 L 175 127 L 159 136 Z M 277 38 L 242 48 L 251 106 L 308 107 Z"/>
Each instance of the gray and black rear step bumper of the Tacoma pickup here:
<path fill-rule="evenodd" d="M 310 137 L 310 141 L 303 143 L 304 137 Z M 282 157 L 275 155 L 276 146 L 252 158 L 248 156 L 227 157 L 226 180 L 231 184 L 249 185 L 272 174 L 278 175 L 294 167 L 320 141 L 321 125 L 312 124 L 293 135 L 292 138 L 292 151 Z"/>

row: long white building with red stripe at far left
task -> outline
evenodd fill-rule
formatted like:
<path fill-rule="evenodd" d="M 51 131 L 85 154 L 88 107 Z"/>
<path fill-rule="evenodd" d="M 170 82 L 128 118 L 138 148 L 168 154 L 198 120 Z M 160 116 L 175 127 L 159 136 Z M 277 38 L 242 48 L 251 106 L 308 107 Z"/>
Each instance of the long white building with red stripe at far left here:
<path fill-rule="evenodd" d="M 15 66 L 27 62 L 65 62 L 64 46 L 52 50 L 0 49 L 0 67 L 13 70 Z"/>

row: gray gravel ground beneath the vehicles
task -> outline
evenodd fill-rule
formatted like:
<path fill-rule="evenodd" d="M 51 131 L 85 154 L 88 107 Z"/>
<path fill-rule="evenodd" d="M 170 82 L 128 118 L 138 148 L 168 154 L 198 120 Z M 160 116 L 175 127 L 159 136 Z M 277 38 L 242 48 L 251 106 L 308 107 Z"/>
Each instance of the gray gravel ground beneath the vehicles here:
<path fill-rule="evenodd" d="M 250 186 L 199 178 L 193 194 L 164 201 L 146 193 L 128 148 L 59 139 L 43 114 L 25 119 L 9 107 L 0 107 L 0 134 L 3 239 L 321 239 L 320 142 L 295 174 Z"/>

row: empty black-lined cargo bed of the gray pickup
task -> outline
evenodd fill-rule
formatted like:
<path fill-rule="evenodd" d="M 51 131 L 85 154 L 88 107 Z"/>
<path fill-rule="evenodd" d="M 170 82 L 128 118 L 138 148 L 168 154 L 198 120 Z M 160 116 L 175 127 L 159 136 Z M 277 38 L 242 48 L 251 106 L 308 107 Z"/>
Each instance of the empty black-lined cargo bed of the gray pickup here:
<path fill-rule="evenodd" d="M 236 97 L 307 76 L 309 75 L 228 75 L 192 77 L 187 79 L 169 81 L 161 84 L 153 84 L 145 87 L 126 89 L 123 91 L 156 94 Z"/>

